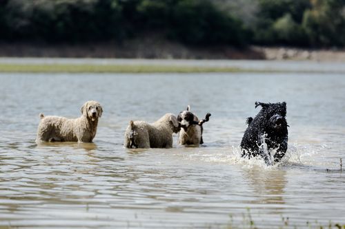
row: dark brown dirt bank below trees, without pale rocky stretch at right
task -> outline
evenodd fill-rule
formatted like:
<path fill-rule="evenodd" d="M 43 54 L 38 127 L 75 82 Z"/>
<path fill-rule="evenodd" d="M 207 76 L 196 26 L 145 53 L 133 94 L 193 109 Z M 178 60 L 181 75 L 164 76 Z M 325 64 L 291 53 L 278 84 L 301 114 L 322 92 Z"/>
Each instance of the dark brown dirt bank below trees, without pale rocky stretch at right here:
<path fill-rule="evenodd" d="M 48 45 L 45 43 L 0 43 L 3 57 L 68 57 L 68 58 L 163 58 L 163 59 L 264 59 L 252 48 L 230 46 L 187 47 L 163 39 L 144 37 L 124 43 L 83 43 Z"/>

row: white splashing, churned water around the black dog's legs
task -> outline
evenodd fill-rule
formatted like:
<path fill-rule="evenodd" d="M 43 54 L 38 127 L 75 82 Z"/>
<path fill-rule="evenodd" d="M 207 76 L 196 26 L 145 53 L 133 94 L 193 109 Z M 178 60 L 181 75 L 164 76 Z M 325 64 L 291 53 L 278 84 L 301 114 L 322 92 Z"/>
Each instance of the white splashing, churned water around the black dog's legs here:
<path fill-rule="evenodd" d="M 273 162 L 268 166 L 262 157 L 253 157 L 250 160 L 241 157 L 242 151 L 240 146 L 231 146 L 230 148 L 190 148 L 186 151 L 179 151 L 177 156 L 184 160 L 193 162 L 207 162 L 212 164 L 229 164 L 238 165 L 243 168 L 261 168 L 261 169 L 288 169 L 288 168 L 308 168 L 308 169 L 325 169 L 337 167 L 338 160 L 325 160 L 324 151 L 328 151 L 328 144 L 288 144 L 288 150 L 280 162 Z M 273 155 L 276 149 L 270 150 L 270 157 L 273 161 Z M 265 152 L 268 153 L 267 149 Z"/>

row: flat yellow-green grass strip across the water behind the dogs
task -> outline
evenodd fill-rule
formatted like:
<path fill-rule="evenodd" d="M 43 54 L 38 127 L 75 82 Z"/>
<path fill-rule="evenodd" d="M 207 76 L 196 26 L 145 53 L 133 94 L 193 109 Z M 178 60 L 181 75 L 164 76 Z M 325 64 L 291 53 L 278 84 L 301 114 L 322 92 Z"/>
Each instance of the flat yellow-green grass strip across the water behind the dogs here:
<path fill-rule="evenodd" d="M 0 72 L 70 72 L 70 73 L 159 73 L 159 72 L 244 72 L 237 67 L 186 65 L 95 65 L 95 64 L 0 64 Z M 248 72 L 248 71 L 246 71 Z"/>

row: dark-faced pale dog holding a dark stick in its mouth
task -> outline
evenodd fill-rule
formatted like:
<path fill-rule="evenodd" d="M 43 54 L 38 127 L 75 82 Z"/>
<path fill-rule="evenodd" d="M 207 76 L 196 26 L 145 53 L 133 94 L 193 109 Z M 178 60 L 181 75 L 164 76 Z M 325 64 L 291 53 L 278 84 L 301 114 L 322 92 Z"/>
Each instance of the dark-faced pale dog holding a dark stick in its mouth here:
<path fill-rule="evenodd" d="M 204 128 L 202 124 L 208 122 L 211 114 L 207 113 L 204 120 L 199 121 L 199 118 L 190 111 L 190 106 L 187 107 L 186 111 L 181 111 L 177 116 L 177 120 L 181 126 L 179 131 L 179 144 L 181 145 L 194 145 L 199 146 L 204 143 L 202 139 L 202 132 Z"/>

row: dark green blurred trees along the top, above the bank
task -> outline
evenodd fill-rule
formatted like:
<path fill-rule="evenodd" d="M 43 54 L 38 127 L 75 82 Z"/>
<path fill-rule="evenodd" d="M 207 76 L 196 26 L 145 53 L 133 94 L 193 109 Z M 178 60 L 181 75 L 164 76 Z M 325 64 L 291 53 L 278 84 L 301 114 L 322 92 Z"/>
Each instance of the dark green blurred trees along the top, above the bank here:
<path fill-rule="evenodd" d="M 344 47 L 345 0 L 0 0 L 0 40 Z"/>

